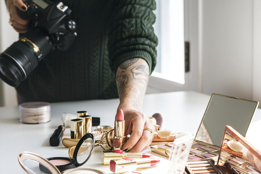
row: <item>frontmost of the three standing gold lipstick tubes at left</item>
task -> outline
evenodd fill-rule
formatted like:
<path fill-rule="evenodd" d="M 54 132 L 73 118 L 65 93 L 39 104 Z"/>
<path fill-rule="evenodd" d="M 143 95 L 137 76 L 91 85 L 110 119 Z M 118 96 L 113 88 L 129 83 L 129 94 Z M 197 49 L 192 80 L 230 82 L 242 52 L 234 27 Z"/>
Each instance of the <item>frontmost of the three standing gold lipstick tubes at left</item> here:
<path fill-rule="evenodd" d="M 84 135 L 83 130 L 83 120 L 82 119 L 72 119 L 71 120 L 71 138 L 81 139 Z"/>

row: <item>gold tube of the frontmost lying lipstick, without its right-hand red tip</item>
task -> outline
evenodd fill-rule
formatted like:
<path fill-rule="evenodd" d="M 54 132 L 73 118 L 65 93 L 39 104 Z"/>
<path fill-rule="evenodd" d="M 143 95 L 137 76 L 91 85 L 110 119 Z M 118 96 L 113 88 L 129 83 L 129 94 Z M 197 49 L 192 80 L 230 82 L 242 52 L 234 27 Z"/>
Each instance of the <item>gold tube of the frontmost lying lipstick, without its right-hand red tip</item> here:
<path fill-rule="evenodd" d="M 124 173 L 138 168 L 148 168 L 151 166 L 150 158 L 139 158 L 135 160 L 112 160 L 115 162 L 115 172 Z"/>

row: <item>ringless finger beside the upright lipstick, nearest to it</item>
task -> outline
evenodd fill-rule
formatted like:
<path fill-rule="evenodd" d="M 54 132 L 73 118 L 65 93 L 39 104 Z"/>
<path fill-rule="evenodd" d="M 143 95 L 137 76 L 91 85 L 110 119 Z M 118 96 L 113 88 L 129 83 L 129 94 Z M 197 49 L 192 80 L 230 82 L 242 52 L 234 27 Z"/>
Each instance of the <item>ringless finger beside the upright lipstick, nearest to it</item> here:
<path fill-rule="evenodd" d="M 124 144 L 123 149 L 132 149 L 137 142 L 139 141 L 139 139 L 142 137 L 143 135 L 143 128 L 144 128 L 144 124 L 145 124 L 145 116 L 144 115 L 137 115 L 135 117 L 133 117 L 133 127 L 132 127 L 132 133 L 131 136 L 129 138 L 129 140 Z"/>

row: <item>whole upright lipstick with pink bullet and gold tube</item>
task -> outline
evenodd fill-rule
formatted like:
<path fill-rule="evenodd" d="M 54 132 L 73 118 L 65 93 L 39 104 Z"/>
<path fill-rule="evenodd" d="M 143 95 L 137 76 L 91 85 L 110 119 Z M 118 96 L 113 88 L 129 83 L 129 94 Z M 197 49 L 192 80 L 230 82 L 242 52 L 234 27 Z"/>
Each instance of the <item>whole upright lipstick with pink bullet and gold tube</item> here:
<path fill-rule="evenodd" d="M 123 111 L 120 109 L 117 112 L 117 118 L 115 120 L 115 136 L 113 139 L 114 150 L 121 150 L 124 144 L 127 142 L 127 136 L 125 131 L 125 120 Z"/>

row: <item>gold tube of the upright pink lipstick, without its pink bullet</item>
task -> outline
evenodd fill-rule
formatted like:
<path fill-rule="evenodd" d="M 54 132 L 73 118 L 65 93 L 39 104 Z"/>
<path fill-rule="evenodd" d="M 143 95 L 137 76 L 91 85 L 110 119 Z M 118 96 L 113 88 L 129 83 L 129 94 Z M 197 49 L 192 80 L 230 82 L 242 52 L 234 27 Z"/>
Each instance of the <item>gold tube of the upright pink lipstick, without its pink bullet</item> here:
<path fill-rule="evenodd" d="M 119 140 L 119 147 L 114 146 L 114 150 L 121 150 L 124 144 L 127 142 L 126 130 L 125 130 L 125 120 L 117 121 L 115 120 L 115 139 Z M 115 145 L 115 144 L 114 144 Z"/>

